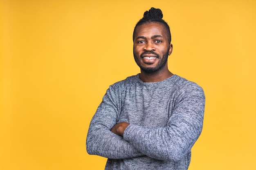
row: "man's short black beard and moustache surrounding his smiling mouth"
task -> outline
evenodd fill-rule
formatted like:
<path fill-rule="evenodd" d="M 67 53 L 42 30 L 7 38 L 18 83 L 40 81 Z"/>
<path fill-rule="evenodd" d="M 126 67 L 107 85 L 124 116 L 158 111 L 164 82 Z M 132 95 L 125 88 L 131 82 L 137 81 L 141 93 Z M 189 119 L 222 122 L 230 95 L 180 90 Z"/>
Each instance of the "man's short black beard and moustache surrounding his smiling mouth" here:
<path fill-rule="evenodd" d="M 141 53 L 141 55 L 139 57 L 137 55 L 135 55 L 135 53 L 133 52 L 133 56 L 134 56 L 134 60 L 135 60 L 136 64 L 139 66 L 141 71 L 143 71 L 144 73 L 157 73 L 157 72 L 161 71 L 162 68 L 164 68 L 164 66 L 166 65 L 166 62 L 168 60 L 168 52 L 169 52 L 169 49 L 166 51 L 166 53 L 164 53 L 162 58 L 160 58 L 159 54 L 155 53 L 154 51 L 145 51 L 145 52 Z M 142 66 L 139 59 L 142 57 L 142 55 L 145 55 L 145 54 L 156 55 L 157 58 L 159 59 L 159 62 L 157 63 L 157 65 L 152 66 L 152 67 Z M 153 64 L 153 63 L 146 63 L 146 64 L 150 65 L 150 64 Z"/>

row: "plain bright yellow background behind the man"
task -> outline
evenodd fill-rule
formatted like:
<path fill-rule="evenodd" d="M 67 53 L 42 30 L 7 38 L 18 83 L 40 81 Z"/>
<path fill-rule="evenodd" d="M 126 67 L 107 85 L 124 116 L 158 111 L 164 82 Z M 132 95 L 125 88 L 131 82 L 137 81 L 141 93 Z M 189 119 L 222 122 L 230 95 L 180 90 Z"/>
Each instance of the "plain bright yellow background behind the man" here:
<path fill-rule="evenodd" d="M 255 170 L 255 0 L 2 0 L 0 170 L 103 170 L 90 119 L 139 73 L 132 31 L 150 7 L 171 27 L 170 70 L 204 88 L 189 170 Z"/>

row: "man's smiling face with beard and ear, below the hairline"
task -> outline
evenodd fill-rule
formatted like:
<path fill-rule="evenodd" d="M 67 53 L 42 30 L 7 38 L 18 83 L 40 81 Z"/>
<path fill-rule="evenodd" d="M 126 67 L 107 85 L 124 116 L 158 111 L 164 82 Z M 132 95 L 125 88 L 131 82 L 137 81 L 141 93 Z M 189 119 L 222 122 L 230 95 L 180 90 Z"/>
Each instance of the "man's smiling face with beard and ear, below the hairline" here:
<path fill-rule="evenodd" d="M 145 73 L 157 73 L 167 68 L 172 45 L 164 25 L 150 22 L 137 26 L 134 34 L 133 55 L 135 62 Z"/>

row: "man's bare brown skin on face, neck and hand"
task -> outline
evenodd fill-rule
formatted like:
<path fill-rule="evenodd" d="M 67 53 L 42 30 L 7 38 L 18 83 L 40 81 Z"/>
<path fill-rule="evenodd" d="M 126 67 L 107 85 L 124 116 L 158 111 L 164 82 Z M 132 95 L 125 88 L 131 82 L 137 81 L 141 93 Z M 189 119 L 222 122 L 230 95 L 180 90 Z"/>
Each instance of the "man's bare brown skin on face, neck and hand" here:
<path fill-rule="evenodd" d="M 136 27 L 133 41 L 133 54 L 137 65 L 141 68 L 139 78 L 143 82 L 160 82 L 173 75 L 168 70 L 167 58 L 171 55 L 173 45 L 168 42 L 164 25 L 150 22 Z M 112 127 L 111 131 L 119 136 L 129 126 L 121 122 Z"/>

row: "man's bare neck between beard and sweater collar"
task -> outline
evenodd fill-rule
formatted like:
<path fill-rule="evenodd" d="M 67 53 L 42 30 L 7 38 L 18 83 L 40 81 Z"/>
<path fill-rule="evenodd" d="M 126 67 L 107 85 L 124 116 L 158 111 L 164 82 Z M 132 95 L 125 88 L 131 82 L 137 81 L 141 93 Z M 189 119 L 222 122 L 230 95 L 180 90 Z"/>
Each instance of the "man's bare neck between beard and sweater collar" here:
<path fill-rule="evenodd" d="M 157 73 L 145 73 L 141 70 L 139 78 L 142 82 L 161 82 L 164 79 L 171 77 L 172 75 L 173 73 L 171 73 L 171 71 L 169 71 L 168 69 L 166 71 L 160 71 Z"/>

